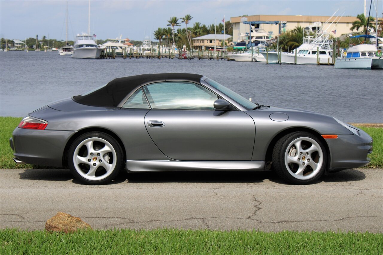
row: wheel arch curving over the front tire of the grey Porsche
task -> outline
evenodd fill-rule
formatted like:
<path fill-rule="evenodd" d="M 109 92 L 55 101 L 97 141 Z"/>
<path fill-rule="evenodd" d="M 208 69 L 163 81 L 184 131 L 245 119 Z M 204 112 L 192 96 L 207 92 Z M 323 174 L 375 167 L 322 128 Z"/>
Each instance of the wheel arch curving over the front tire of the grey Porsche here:
<path fill-rule="evenodd" d="M 312 130 L 310 128 L 304 128 L 304 127 L 288 128 L 288 129 L 282 130 L 280 133 L 275 135 L 267 147 L 265 162 L 271 162 L 272 161 L 273 148 L 275 147 L 275 144 L 277 143 L 277 141 L 280 138 L 282 138 L 283 136 L 285 136 L 289 133 L 293 133 L 293 132 L 311 133 L 312 135 L 316 136 L 316 138 L 318 138 L 318 140 L 320 140 L 323 143 L 324 148 L 326 149 L 327 157 L 328 157 L 326 171 L 325 171 L 325 174 L 327 174 L 328 168 L 330 167 L 330 162 L 331 162 L 331 154 L 330 154 L 329 146 L 327 145 L 325 139 L 318 132 L 316 132 L 315 130 Z"/>

